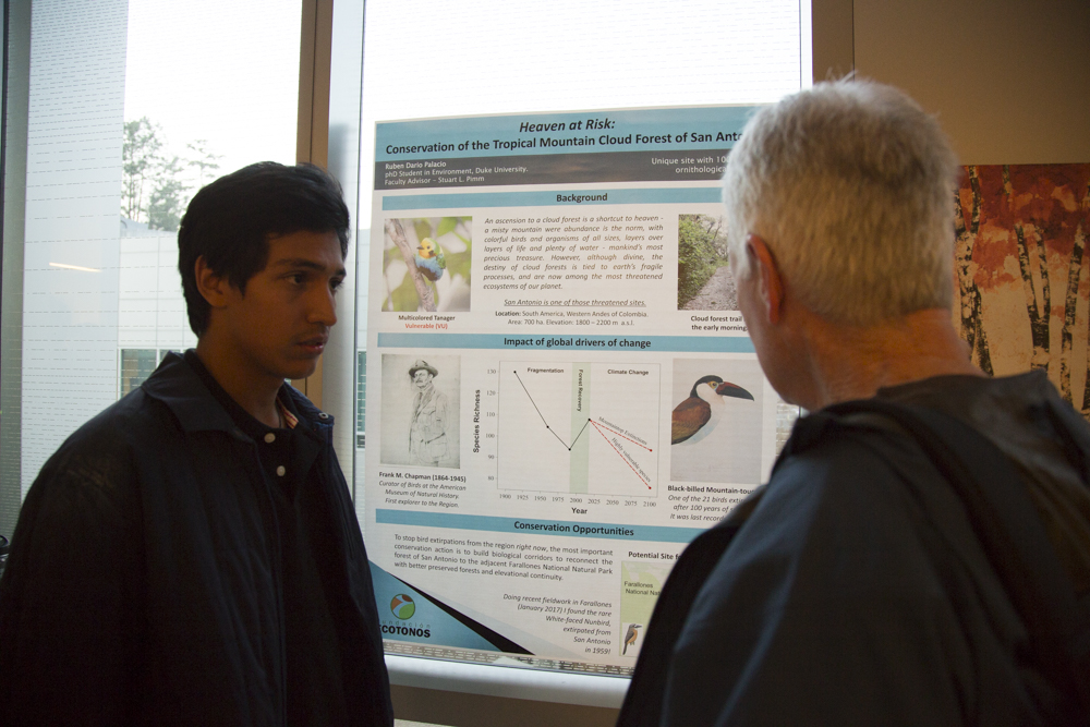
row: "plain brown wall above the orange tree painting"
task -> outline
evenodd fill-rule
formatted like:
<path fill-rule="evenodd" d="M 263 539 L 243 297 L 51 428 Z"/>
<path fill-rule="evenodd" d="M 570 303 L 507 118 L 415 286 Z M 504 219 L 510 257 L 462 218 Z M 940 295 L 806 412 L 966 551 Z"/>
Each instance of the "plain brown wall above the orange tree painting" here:
<path fill-rule="evenodd" d="M 962 163 L 1090 161 L 1090 2 L 855 0 L 852 8 L 857 72 L 938 113 Z"/>

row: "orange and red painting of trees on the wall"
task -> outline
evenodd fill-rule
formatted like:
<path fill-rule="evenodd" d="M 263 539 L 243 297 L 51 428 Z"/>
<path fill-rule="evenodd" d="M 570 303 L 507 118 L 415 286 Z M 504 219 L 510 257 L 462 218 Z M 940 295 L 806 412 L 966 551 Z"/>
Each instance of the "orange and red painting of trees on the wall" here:
<path fill-rule="evenodd" d="M 955 211 L 954 325 L 973 362 L 1044 368 L 1090 419 L 1090 163 L 966 167 Z"/>

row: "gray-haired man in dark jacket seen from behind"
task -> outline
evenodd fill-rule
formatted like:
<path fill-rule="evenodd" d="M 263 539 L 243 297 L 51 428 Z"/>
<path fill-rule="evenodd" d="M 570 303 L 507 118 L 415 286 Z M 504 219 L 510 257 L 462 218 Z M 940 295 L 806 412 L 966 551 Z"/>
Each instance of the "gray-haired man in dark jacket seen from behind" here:
<path fill-rule="evenodd" d="M 813 413 L 679 558 L 618 724 L 1086 722 L 1071 665 L 1042 658 L 1069 653 L 1036 641 L 1034 594 L 957 488 L 976 465 L 954 476 L 915 429 L 860 413 L 1002 450 L 1045 570 L 1087 605 L 1090 429 L 1043 372 L 989 378 L 954 331 L 957 174 L 935 119 L 863 81 L 761 109 L 731 150 L 738 305 L 773 387 Z"/>

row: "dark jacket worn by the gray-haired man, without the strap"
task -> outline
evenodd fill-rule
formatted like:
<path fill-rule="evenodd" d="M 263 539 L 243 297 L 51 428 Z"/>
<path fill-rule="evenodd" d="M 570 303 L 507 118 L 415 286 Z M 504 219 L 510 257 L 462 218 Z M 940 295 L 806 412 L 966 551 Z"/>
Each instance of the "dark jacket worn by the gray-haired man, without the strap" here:
<path fill-rule="evenodd" d="M 1087 597 L 1090 428 L 1043 371 L 941 376 L 879 398 L 993 439 Z M 678 559 L 617 724 L 1081 724 L 1030 639 L 916 441 L 819 413 L 796 424 L 768 484 Z"/>

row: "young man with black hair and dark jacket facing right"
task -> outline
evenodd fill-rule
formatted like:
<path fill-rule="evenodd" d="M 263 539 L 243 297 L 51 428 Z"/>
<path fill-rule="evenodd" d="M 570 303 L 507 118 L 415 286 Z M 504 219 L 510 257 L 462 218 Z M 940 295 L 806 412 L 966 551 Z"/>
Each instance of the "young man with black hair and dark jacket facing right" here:
<path fill-rule="evenodd" d="M 0 581 L 0 724 L 392 724 L 332 420 L 284 384 L 337 322 L 348 230 L 311 166 L 252 165 L 193 198 L 197 348 L 27 494 Z"/>

